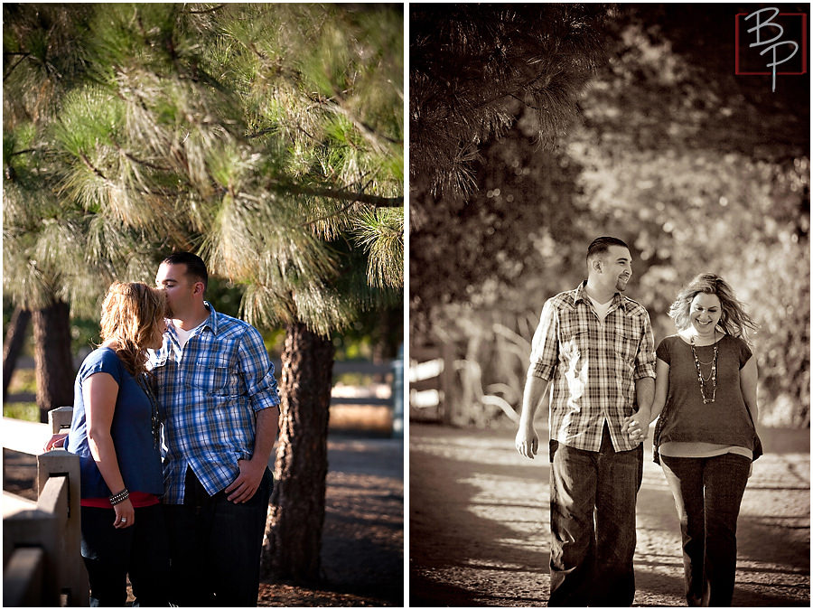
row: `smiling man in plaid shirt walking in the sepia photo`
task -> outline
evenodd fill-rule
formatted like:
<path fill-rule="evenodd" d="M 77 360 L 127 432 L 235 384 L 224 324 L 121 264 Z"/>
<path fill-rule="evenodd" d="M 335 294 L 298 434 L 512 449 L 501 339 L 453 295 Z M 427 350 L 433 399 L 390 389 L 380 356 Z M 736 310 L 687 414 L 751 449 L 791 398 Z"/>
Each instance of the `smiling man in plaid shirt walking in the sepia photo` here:
<path fill-rule="evenodd" d="M 533 458 L 534 415 L 550 389 L 551 606 L 629 606 L 635 596 L 635 502 L 654 398 L 649 314 L 621 295 L 630 249 L 598 238 L 587 280 L 547 300 L 534 333 L 516 438 Z"/>

